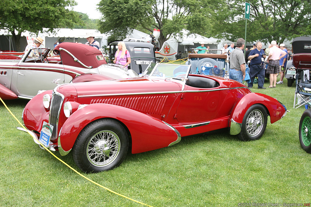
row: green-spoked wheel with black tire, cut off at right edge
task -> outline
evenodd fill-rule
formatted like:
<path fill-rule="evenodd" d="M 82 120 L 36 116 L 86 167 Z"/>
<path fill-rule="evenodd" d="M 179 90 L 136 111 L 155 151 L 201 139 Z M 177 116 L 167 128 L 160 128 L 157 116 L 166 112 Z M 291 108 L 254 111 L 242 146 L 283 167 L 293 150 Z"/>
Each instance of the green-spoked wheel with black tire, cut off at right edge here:
<path fill-rule="evenodd" d="M 302 149 L 311 153 L 311 109 L 305 110 L 300 118 L 299 141 Z"/>

